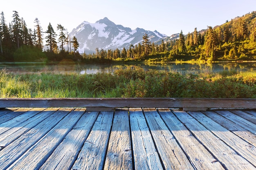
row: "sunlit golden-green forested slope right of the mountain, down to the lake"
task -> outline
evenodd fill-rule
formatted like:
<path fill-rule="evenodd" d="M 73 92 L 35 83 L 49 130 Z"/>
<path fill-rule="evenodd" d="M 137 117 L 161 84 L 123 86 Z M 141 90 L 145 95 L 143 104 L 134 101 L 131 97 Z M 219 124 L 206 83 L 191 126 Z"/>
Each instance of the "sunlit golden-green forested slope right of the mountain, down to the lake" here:
<path fill-rule="evenodd" d="M 85 58 L 148 59 L 150 61 L 175 60 L 254 60 L 256 59 L 256 11 L 226 21 L 206 30 L 194 29 L 175 40 L 151 43 L 145 33 L 140 44 L 129 48 L 104 50 L 83 54 Z"/>

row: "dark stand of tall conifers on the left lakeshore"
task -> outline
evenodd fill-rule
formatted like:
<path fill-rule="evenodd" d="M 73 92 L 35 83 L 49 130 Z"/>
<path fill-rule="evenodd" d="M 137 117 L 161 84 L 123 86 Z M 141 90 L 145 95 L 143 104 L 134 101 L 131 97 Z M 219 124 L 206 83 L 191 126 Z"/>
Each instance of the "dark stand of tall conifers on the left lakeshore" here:
<path fill-rule="evenodd" d="M 4 13 L 0 14 L 0 60 L 37 60 L 48 57 L 47 55 L 51 56 L 50 53 L 65 56 L 77 53 L 79 43 L 76 37 L 71 40 L 67 29 L 61 24 L 56 26 L 57 34 L 51 23 L 47 30 L 43 31 L 38 18 L 34 20 L 34 29 L 30 29 L 27 28 L 25 20 L 20 18 L 17 11 L 13 11 L 12 17 L 13 20 L 7 25 Z M 45 39 L 43 39 L 43 34 L 45 34 Z M 43 44 L 44 40 L 46 44 Z M 61 44 L 59 47 L 58 42 Z M 45 49 L 46 53 L 43 53 L 45 45 L 47 49 Z M 67 50 L 64 49 L 65 45 Z M 22 56 L 21 53 L 25 55 Z"/>

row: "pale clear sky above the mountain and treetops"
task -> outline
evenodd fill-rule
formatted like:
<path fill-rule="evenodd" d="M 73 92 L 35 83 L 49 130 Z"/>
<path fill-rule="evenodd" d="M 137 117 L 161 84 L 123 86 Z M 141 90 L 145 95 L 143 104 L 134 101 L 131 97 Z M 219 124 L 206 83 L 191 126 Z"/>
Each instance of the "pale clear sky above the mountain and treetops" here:
<path fill-rule="evenodd" d="M 83 21 L 95 23 L 107 17 L 131 29 L 157 30 L 168 36 L 216 26 L 237 16 L 256 11 L 256 0 L 2 0 L 0 11 L 6 23 L 19 13 L 34 29 L 38 18 L 43 31 L 49 22 L 57 32 L 61 24 L 70 33 Z"/>

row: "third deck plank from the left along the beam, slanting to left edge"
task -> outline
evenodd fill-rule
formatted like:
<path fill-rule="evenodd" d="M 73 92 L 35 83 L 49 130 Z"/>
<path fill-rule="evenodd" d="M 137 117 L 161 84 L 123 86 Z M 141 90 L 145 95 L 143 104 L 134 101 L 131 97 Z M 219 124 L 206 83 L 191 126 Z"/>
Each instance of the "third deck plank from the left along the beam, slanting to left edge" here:
<path fill-rule="evenodd" d="M 0 124 L 0 134 L 2 134 L 3 132 L 5 132 L 15 126 L 18 126 L 19 124 L 22 124 L 23 122 L 27 121 L 27 119 L 30 119 L 37 113 L 43 111 L 44 109 L 45 108 L 33 108 L 30 110 L 30 108 L 29 108 L 29 111 L 26 111 L 27 109 L 22 110 L 24 112 L 23 114 L 18 115 L 17 117 L 14 117 L 13 119 L 11 119 L 9 121 L 6 121 L 6 122 Z"/>

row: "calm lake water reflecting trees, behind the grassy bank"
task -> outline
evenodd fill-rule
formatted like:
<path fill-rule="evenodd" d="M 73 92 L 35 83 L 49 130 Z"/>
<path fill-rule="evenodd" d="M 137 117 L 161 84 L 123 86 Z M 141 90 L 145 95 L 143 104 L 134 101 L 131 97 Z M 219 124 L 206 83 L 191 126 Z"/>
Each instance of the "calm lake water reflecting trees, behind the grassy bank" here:
<path fill-rule="evenodd" d="M 114 72 L 117 69 L 143 68 L 144 70 L 157 69 L 173 73 L 199 74 L 230 72 L 255 72 L 256 62 L 227 62 L 227 63 L 139 63 L 139 64 L 43 64 L 43 63 L 0 63 L 0 69 L 5 68 L 9 73 L 78 73 L 92 74 L 101 72 Z"/>

